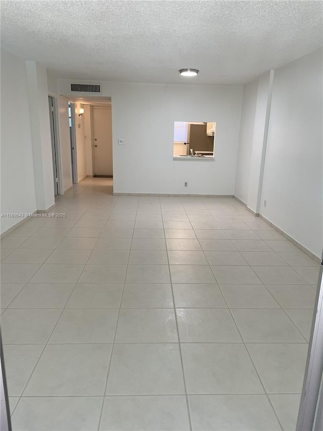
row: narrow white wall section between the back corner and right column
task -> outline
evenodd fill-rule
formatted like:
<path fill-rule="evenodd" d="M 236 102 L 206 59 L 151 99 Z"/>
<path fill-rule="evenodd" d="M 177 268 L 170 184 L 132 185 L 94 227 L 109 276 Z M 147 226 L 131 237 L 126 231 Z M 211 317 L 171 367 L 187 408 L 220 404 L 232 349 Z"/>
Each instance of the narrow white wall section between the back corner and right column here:
<path fill-rule="evenodd" d="M 249 84 L 244 85 L 242 94 L 235 196 L 245 203 L 247 203 L 248 200 L 258 81 L 259 79 L 257 78 Z"/>

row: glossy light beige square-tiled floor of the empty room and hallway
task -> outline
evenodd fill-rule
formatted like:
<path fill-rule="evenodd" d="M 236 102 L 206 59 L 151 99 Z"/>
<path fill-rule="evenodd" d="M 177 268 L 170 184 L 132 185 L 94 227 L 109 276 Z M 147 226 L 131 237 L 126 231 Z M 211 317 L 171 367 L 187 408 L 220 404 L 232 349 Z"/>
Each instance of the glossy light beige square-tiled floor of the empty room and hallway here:
<path fill-rule="evenodd" d="M 318 264 L 231 198 L 54 211 L 1 241 L 14 431 L 295 429 Z"/>

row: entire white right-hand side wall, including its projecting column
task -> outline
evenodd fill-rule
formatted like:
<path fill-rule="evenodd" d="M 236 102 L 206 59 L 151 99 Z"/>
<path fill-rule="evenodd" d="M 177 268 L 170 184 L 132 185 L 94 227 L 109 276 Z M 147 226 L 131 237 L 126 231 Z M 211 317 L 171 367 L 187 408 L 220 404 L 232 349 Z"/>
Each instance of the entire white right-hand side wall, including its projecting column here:
<path fill-rule="evenodd" d="M 257 208 L 264 111 L 268 97 L 270 100 L 267 78 L 261 75 L 243 89 L 235 195 L 320 256 L 323 236 L 322 50 L 274 72 L 262 193 Z M 255 161 L 252 157 L 256 153 Z M 251 177 L 254 172 L 258 175 Z"/>

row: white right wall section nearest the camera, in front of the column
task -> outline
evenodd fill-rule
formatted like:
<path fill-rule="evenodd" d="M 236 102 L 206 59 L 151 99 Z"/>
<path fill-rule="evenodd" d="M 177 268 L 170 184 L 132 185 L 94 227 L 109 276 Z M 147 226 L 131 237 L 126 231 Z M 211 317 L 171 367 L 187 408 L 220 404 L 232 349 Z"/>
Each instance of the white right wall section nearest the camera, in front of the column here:
<path fill-rule="evenodd" d="M 322 252 L 322 141 L 318 50 L 275 71 L 261 196 L 261 214 L 316 256 Z"/>

